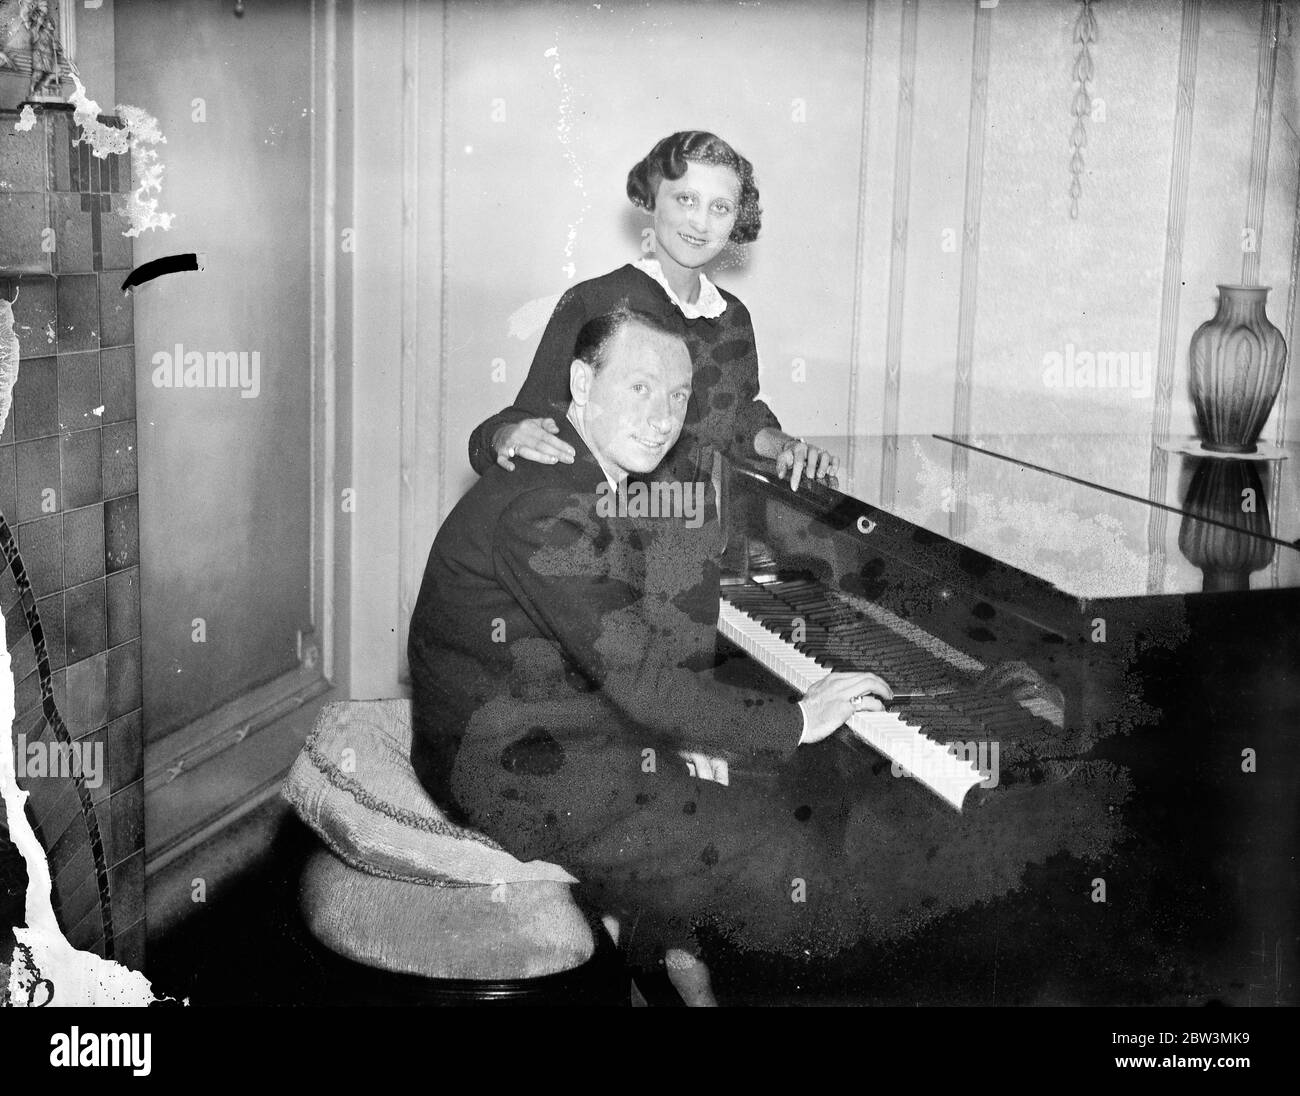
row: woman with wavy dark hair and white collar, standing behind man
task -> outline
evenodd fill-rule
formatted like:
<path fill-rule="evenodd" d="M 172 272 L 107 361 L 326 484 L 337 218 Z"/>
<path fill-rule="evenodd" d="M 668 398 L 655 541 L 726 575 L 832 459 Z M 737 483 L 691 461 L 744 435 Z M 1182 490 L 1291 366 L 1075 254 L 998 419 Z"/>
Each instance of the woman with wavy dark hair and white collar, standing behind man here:
<path fill-rule="evenodd" d="M 514 404 L 469 437 L 474 471 L 482 473 L 493 462 L 514 471 L 515 458 L 572 463 L 573 449 L 558 437 L 555 415 L 568 404 L 577 333 L 593 316 L 627 303 L 664 320 L 686 341 L 694 382 L 684 443 L 694 446 L 697 467 L 707 468 L 708 451 L 716 450 L 776 460 L 796 490 L 803 476 L 833 475 L 836 458 L 783 432 L 757 398 L 749 309 L 703 274 L 728 242 L 758 238 L 762 209 L 753 165 L 711 133 L 675 133 L 628 173 L 628 198 L 654 217 L 656 257 L 580 282 L 560 298 Z"/>

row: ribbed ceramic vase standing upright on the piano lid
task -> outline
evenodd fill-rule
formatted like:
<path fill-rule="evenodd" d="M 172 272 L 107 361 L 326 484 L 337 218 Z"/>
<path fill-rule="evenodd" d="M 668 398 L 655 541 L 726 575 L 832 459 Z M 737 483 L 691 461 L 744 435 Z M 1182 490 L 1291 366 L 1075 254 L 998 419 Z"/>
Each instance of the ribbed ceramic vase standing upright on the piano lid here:
<path fill-rule="evenodd" d="M 1287 342 L 1269 322 L 1270 286 L 1219 286 L 1218 312 L 1190 348 L 1192 404 L 1210 452 L 1254 452 L 1287 364 Z"/>

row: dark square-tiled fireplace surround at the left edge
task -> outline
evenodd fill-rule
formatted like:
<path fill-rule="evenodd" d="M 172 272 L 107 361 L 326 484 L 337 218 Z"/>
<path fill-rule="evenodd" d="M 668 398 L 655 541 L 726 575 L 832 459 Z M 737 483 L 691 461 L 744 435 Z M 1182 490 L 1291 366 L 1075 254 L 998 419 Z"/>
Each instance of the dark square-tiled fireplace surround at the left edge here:
<path fill-rule="evenodd" d="M 60 923 L 139 967 L 144 949 L 139 521 L 126 156 L 74 143 L 72 112 L 0 112 L 0 293 L 21 350 L 0 436 L 0 602 L 13 733 L 103 744 L 101 783 L 23 777 Z M 103 117 L 103 122 L 114 124 Z M 94 753 L 90 754 L 94 757 Z M 22 762 L 20 761 L 20 764 Z"/>

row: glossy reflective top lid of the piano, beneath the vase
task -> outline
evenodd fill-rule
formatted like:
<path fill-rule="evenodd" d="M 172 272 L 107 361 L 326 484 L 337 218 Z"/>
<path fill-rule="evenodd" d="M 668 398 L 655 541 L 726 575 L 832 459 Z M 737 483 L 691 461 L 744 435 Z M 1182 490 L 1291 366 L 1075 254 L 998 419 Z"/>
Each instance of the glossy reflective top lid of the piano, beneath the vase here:
<path fill-rule="evenodd" d="M 1240 460 L 1127 436 L 809 441 L 840 455 L 840 493 L 1072 597 L 1300 586 L 1300 446 Z"/>

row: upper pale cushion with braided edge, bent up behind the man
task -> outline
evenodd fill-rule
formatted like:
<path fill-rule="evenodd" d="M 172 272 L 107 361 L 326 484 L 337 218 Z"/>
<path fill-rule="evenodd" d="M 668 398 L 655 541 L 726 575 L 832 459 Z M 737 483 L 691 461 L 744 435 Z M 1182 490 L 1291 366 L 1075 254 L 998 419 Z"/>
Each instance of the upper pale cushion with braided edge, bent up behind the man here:
<path fill-rule="evenodd" d="M 577 881 L 446 819 L 411 767 L 408 699 L 325 705 L 283 796 L 338 857 L 370 875 L 434 887 Z"/>

